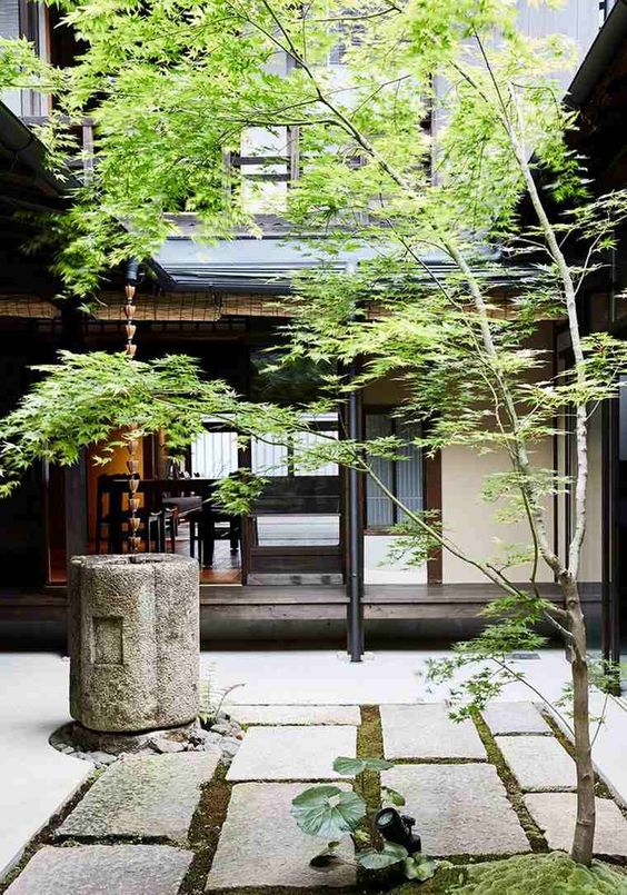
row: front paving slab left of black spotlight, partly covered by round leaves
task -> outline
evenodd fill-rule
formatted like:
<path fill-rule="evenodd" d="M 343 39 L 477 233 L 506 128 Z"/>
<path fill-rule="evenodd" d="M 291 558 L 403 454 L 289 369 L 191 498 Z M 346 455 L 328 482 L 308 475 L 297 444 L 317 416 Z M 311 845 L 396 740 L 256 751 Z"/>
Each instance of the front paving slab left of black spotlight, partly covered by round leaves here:
<path fill-rule="evenodd" d="M 342 788 L 350 788 L 342 785 Z M 227 819 L 207 879 L 207 891 L 247 886 L 325 888 L 356 883 L 346 864 L 317 871 L 309 862 L 326 845 L 306 836 L 290 814 L 291 800 L 307 784 L 241 783 L 233 787 Z M 342 857 L 352 856 L 352 843 L 342 843 Z"/>

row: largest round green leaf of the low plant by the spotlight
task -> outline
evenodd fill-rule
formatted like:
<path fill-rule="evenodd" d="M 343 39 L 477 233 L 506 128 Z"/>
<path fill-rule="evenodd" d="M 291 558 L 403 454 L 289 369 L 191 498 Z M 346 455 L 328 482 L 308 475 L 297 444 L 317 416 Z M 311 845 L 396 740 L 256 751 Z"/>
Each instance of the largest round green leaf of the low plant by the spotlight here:
<path fill-rule="evenodd" d="M 338 786 L 315 786 L 296 796 L 291 815 L 309 836 L 339 839 L 366 816 L 366 803 L 357 793 Z"/>

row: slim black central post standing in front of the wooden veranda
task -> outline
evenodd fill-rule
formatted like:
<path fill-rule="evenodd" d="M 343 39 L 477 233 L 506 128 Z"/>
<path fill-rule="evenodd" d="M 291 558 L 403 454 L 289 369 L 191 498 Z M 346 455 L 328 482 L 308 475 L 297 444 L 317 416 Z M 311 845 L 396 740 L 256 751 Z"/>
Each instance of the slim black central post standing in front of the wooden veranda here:
<path fill-rule="evenodd" d="M 357 374 L 357 364 L 349 368 L 350 378 Z M 347 436 L 362 440 L 361 391 L 352 391 L 348 399 Z M 348 490 L 348 654 L 351 662 L 361 662 L 364 656 L 364 474 L 350 468 L 347 476 Z"/>

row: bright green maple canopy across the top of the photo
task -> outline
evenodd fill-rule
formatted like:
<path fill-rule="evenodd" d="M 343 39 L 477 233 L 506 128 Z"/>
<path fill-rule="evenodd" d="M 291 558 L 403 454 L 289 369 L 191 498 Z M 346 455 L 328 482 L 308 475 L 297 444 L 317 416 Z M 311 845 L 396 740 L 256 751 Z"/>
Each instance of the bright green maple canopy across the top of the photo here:
<path fill-rule="evenodd" d="M 77 64 L 59 70 L 23 39 L 3 40 L 0 83 L 53 93 L 52 149 L 80 158 L 63 135 L 87 115 L 94 121 L 98 165 L 42 237 L 54 239 L 70 291 L 89 296 L 107 267 L 153 252 L 172 226 L 165 212 L 196 212 L 209 238 L 236 227 L 257 233 L 243 199 L 250 183 L 223 163 L 251 127 L 267 127 L 275 147 L 281 128 L 299 127 L 305 163 L 288 215 L 324 230 L 331 255 L 386 246 L 416 274 L 425 247 L 447 250 L 445 232 L 470 252 L 471 233 L 514 238 L 515 248 L 525 182 L 504 123 L 517 118 L 553 197 L 586 209 L 565 226 L 594 227 L 595 239 L 604 227 L 603 250 L 611 219 L 625 215 L 618 195 L 587 201 L 581 160 L 566 149 L 576 120 L 553 76 L 571 63 L 573 47 L 559 36 L 525 39 L 511 0 L 312 0 L 305 13 L 290 0 L 57 6 L 87 46 Z M 341 74 L 325 66 L 338 42 Z M 298 62 L 285 76 L 271 66 L 279 51 Z M 448 121 L 435 183 L 429 111 Z M 336 315 L 346 288 L 338 299 Z"/>

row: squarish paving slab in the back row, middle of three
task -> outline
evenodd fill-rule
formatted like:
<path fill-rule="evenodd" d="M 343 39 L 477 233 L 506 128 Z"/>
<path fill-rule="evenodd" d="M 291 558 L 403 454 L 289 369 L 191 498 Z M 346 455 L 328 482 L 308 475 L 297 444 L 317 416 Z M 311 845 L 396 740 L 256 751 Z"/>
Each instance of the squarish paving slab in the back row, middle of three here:
<path fill-rule="evenodd" d="M 386 758 L 477 758 L 486 749 L 471 720 L 450 720 L 444 703 L 382 705 Z"/>

